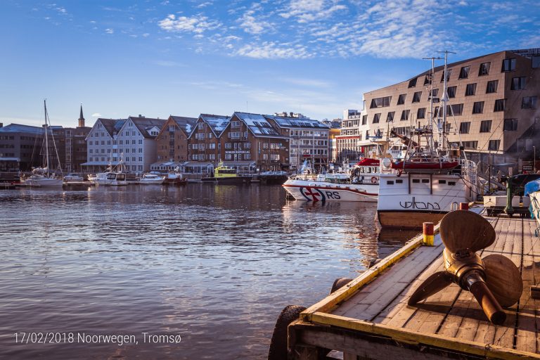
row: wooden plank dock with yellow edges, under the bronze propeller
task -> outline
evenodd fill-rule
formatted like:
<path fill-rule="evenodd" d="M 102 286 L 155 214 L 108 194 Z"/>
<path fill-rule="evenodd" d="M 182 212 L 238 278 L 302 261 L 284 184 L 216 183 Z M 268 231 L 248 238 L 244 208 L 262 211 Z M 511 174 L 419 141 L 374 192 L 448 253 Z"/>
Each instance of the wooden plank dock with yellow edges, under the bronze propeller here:
<path fill-rule="evenodd" d="M 455 284 L 418 306 L 407 305 L 425 278 L 444 269 L 439 235 L 433 247 L 421 245 L 420 236 L 303 311 L 288 328 L 290 356 L 326 359 L 336 350 L 345 360 L 540 359 L 540 300 L 530 290 L 540 281 L 537 224 L 487 219 L 497 238 L 480 256 L 505 255 L 523 278 L 522 297 L 506 309 L 503 326 L 487 321 L 473 295 Z"/>

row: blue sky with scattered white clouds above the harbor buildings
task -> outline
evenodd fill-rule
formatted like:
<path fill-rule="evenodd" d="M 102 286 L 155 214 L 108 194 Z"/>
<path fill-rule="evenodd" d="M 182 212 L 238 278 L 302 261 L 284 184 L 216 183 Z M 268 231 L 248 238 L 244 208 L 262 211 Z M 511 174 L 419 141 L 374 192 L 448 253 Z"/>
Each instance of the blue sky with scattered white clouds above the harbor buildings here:
<path fill-rule="evenodd" d="M 363 108 L 450 62 L 540 47 L 540 1 L 0 1 L 0 122 Z M 437 65 L 442 65 L 437 63 Z"/>

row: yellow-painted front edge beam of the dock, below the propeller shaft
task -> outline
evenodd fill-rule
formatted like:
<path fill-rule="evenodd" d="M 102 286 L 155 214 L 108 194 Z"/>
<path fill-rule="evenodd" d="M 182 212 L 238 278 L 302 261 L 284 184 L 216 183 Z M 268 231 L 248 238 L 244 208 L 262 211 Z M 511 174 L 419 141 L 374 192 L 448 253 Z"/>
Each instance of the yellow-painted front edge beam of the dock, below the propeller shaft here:
<path fill-rule="evenodd" d="M 383 335 L 409 344 L 422 343 L 423 345 L 441 347 L 444 349 L 463 352 L 465 354 L 484 356 L 487 359 L 540 359 L 540 354 L 534 354 L 531 352 L 522 352 L 515 349 L 509 349 L 507 347 L 482 344 L 481 342 L 447 338 L 445 336 L 436 334 L 421 334 L 404 328 L 394 328 L 392 326 L 386 326 L 380 323 L 371 323 L 368 321 L 350 319 L 345 316 L 324 314 L 321 312 L 311 314 L 311 322 L 323 325 L 339 326 L 340 328 L 347 328 L 350 330 L 359 330 L 373 335 Z"/>

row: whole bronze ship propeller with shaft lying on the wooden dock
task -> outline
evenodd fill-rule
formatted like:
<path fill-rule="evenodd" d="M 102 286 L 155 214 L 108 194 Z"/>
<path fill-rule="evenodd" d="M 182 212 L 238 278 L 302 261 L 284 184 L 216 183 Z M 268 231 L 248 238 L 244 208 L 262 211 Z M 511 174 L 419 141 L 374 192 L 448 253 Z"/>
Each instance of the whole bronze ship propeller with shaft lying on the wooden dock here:
<path fill-rule="evenodd" d="M 508 257 L 493 254 L 480 259 L 477 255 L 477 251 L 495 242 L 493 226 L 474 212 L 457 210 L 444 215 L 439 233 L 445 246 L 444 271 L 425 279 L 408 304 L 417 304 L 456 283 L 473 293 L 491 323 L 501 325 L 506 320 L 502 308 L 520 300 L 523 281 L 520 270 Z"/>

